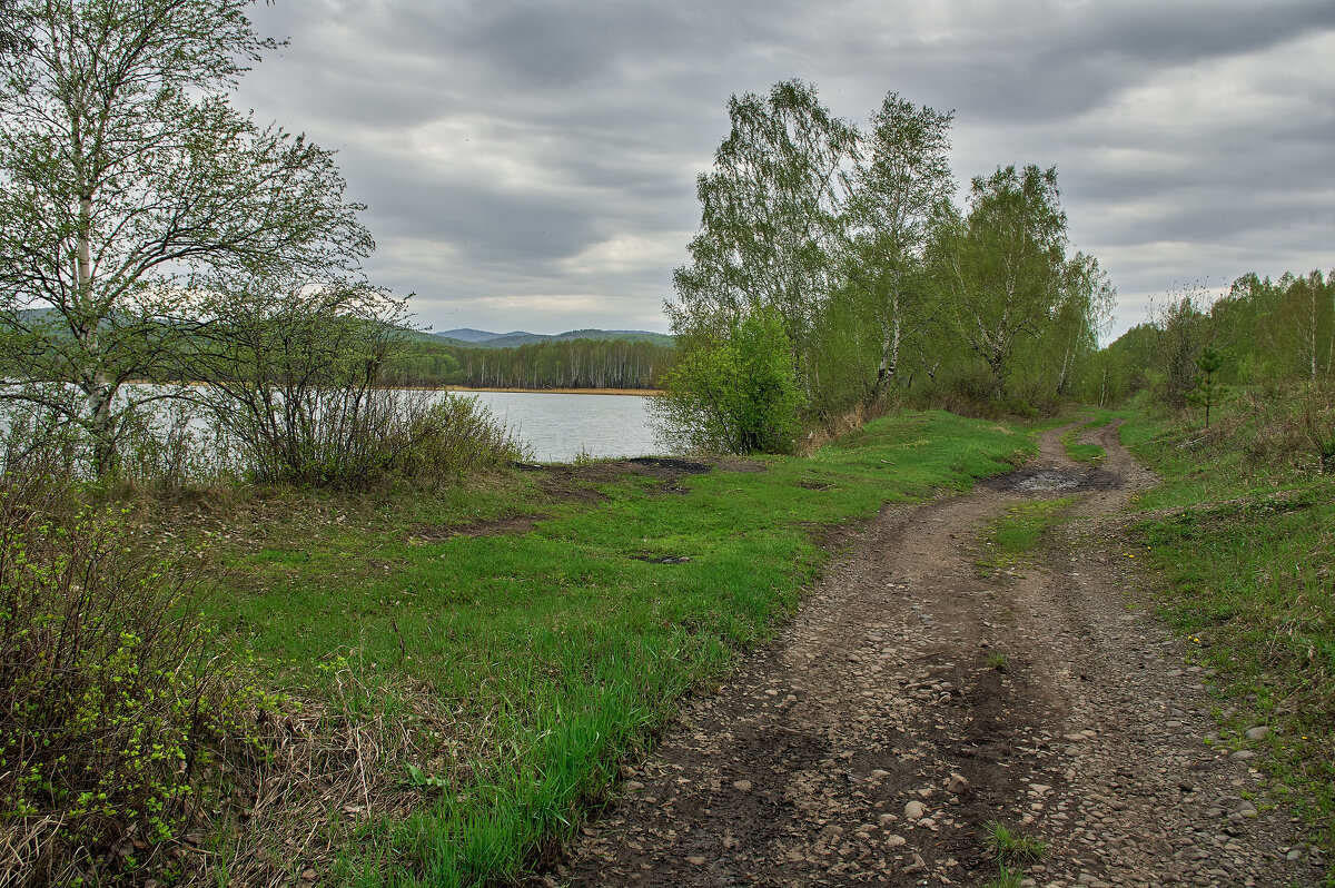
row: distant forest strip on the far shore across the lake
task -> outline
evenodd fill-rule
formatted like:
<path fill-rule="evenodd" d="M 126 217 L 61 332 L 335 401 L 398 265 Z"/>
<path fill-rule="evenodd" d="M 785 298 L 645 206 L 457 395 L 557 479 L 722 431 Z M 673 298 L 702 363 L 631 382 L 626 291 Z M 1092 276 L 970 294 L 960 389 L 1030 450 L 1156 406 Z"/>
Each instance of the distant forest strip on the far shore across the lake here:
<path fill-rule="evenodd" d="M 495 349 L 415 338 L 394 357 L 387 377 L 406 386 L 657 389 L 672 357 L 672 347 L 625 339 L 559 339 Z"/>

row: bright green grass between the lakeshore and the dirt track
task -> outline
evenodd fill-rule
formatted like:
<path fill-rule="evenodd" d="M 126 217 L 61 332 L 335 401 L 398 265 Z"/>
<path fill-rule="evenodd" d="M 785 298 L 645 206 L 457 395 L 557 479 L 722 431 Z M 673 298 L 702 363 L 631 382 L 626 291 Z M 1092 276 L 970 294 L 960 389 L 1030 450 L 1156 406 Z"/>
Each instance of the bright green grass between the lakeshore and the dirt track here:
<path fill-rule="evenodd" d="M 219 531 L 232 578 L 212 614 L 291 688 L 414 737 L 414 761 L 396 766 L 421 801 L 358 828 L 343 883 L 519 880 L 686 692 L 772 637 L 824 561 L 822 529 L 964 490 L 1032 451 L 993 422 L 932 411 L 764 471 L 684 478 L 682 495 L 602 473 L 569 501 L 515 473 L 447 501 L 390 495 L 342 522 L 346 503 L 322 502 L 323 519 L 280 519 L 263 538 Z M 539 518 L 441 533 L 519 514 Z M 406 689 L 429 689 L 449 724 L 414 721 Z"/>

